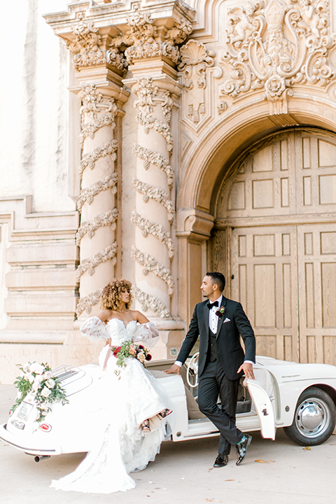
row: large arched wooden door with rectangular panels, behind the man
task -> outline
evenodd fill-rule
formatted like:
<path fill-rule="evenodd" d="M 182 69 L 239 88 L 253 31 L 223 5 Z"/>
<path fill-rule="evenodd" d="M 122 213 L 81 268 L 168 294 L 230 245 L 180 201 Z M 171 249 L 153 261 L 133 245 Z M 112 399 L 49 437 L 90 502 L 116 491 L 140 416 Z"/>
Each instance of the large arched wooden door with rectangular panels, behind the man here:
<path fill-rule="evenodd" d="M 257 351 L 336 363 L 336 135 L 297 128 L 252 146 L 215 204 L 211 267 L 228 276 Z"/>

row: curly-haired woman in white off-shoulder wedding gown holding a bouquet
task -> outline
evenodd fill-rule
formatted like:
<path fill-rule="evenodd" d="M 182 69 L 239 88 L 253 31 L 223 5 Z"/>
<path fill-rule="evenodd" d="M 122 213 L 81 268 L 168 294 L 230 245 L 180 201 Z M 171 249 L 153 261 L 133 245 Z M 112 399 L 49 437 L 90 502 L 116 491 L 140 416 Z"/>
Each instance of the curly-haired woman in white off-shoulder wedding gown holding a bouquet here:
<path fill-rule="evenodd" d="M 131 288 L 132 283 L 125 279 L 108 283 L 102 291 L 103 311 L 80 327 L 91 341 L 106 340 L 99 355 L 103 372 L 96 393 L 102 401 L 108 401 L 109 418 L 98 428 L 94 448 L 78 468 L 52 481 L 55 489 L 85 493 L 132 489 L 135 483 L 129 473 L 144 469 L 160 451 L 165 419 L 172 413 L 165 392 L 137 358 L 125 358 L 125 365 L 120 367 L 115 355 L 123 342 L 153 346 L 159 336 L 144 314 L 130 310 Z"/>

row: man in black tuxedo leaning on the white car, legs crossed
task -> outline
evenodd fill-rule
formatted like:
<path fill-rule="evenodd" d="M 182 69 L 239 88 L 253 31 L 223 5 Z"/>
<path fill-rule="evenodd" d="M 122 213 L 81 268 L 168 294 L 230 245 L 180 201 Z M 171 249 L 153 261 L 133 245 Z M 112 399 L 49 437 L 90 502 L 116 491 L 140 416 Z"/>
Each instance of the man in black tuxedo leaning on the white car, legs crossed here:
<path fill-rule="evenodd" d="M 224 288 L 222 273 L 208 272 L 204 276 L 201 291 L 207 301 L 196 304 L 179 356 L 166 371 L 180 374 L 181 365 L 200 335 L 198 405 L 221 433 L 216 468 L 228 464 L 231 446 L 236 446 L 236 464 L 240 465 L 252 439 L 237 428 L 235 414 L 239 378 L 245 374 L 254 379 L 255 337 L 241 304 L 224 297 Z M 239 335 L 244 341 L 245 356 Z M 221 406 L 217 404 L 218 394 Z"/>

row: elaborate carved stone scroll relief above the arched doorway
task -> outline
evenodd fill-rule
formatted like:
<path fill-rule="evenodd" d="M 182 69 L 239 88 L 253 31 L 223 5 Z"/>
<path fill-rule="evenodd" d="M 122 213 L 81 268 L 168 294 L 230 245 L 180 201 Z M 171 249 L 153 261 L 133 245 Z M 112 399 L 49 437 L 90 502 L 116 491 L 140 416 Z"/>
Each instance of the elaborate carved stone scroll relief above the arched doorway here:
<path fill-rule="evenodd" d="M 271 113 L 286 113 L 286 97 L 297 83 L 325 86 L 334 74 L 328 51 L 328 0 L 248 2 L 228 11 L 228 50 L 223 60 L 232 71 L 221 89 L 233 98 L 263 89 Z"/>

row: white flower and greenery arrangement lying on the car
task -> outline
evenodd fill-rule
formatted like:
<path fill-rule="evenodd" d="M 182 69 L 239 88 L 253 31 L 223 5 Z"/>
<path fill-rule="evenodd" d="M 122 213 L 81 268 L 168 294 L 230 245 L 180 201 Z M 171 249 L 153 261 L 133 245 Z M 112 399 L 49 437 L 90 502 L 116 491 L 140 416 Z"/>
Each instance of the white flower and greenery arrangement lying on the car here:
<path fill-rule="evenodd" d="M 14 385 L 18 388 L 18 397 L 10 413 L 20 406 L 28 394 L 34 395 L 34 401 L 37 403 L 38 418 L 36 422 L 40 423 L 45 419 L 48 412 L 51 411 L 52 402 L 62 402 L 62 405 L 69 402 L 66 399 L 64 389 L 59 385 L 57 378 L 53 376 L 51 367 L 48 364 L 27 363 L 19 365 L 21 376 L 17 377 Z"/>

